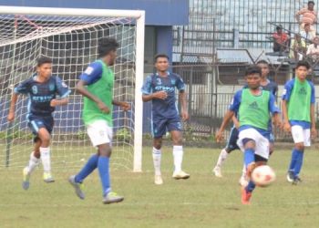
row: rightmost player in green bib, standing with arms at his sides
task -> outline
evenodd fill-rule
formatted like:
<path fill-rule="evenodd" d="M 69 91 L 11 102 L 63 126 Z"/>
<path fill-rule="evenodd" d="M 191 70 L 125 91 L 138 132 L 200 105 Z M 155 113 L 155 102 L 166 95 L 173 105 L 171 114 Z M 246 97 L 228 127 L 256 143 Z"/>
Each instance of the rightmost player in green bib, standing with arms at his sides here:
<path fill-rule="evenodd" d="M 309 68 L 308 62 L 298 62 L 295 68 L 296 77 L 289 80 L 283 89 L 284 130 L 292 132 L 294 142 L 287 181 L 293 184 L 301 181 L 299 173 L 304 161 L 304 147 L 309 147 L 311 138 L 317 135 L 314 119 L 314 84 L 306 80 Z"/>

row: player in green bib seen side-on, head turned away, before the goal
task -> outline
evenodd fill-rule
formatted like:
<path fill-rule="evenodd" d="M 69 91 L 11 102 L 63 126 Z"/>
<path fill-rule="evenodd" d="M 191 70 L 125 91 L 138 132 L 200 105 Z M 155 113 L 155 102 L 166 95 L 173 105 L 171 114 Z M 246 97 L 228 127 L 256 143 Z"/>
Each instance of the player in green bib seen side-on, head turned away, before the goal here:
<path fill-rule="evenodd" d="M 77 196 L 84 200 L 82 183 L 87 176 L 98 168 L 102 184 L 103 203 L 122 202 L 124 197 L 111 192 L 109 159 L 113 138 L 113 105 L 129 110 L 127 102 L 113 100 L 114 73 L 109 68 L 115 64 L 118 42 L 113 38 L 103 38 L 98 45 L 99 59 L 91 63 L 77 82 L 77 91 L 84 97 L 82 119 L 87 127 L 87 135 L 98 152 L 92 155 L 77 175 L 69 177 Z"/>

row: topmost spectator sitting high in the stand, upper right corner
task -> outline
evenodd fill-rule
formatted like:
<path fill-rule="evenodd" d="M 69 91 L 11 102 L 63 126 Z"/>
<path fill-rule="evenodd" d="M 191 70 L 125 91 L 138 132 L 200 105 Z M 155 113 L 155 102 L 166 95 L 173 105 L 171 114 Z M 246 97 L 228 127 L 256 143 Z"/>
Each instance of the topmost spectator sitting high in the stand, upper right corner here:
<path fill-rule="evenodd" d="M 303 17 L 300 18 L 300 16 L 303 16 Z M 303 9 L 299 10 L 295 15 L 295 19 L 300 24 L 301 31 L 304 31 L 305 24 L 309 24 L 310 25 L 310 33 L 313 36 L 315 36 L 314 24 L 317 21 L 317 12 L 314 11 L 314 1 L 309 1 L 307 8 L 303 8 Z"/>

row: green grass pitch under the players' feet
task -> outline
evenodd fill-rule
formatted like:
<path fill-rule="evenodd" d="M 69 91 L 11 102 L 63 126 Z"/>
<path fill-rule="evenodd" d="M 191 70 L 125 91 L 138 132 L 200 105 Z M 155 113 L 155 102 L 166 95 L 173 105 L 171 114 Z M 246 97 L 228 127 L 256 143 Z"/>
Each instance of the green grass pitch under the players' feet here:
<path fill-rule="evenodd" d="M 57 171 L 57 181 L 46 184 L 42 171 L 32 176 L 28 191 L 21 188 L 21 171 L 0 169 L 0 227 L 318 227 L 319 156 L 305 154 L 302 178 L 285 181 L 289 150 L 277 150 L 270 165 L 277 181 L 258 188 L 252 204 L 240 201 L 238 179 L 242 153 L 234 151 L 223 167 L 222 179 L 211 175 L 219 150 L 186 149 L 183 167 L 188 181 L 174 181 L 172 156 L 162 156 L 164 184 L 153 184 L 150 149 L 144 150 L 143 172 L 112 171 L 113 190 L 125 201 L 103 205 L 98 173 L 87 178 L 85 201 L 78 200 L 67 183 L 74 171 Z"/>

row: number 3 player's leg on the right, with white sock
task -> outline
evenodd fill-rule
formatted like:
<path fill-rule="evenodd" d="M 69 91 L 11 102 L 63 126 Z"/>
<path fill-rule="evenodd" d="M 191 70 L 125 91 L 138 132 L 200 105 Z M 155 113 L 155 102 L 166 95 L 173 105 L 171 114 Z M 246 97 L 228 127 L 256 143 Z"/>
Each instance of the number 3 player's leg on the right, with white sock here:
<path fill-rule="evenodd" d="M 167 129 L 170 131 L 171 140 L 173 142 L 174 172 L 172 177 L 176 180 L 188 179 L 190 178 L 190 174 L 181 170 L 184 151 L 182 146 L 180 118 L 169 119 Z"/>

